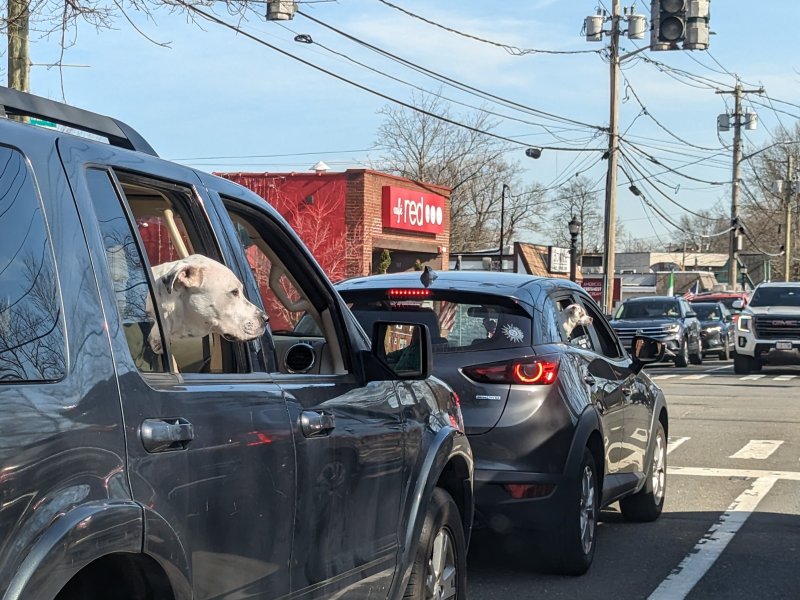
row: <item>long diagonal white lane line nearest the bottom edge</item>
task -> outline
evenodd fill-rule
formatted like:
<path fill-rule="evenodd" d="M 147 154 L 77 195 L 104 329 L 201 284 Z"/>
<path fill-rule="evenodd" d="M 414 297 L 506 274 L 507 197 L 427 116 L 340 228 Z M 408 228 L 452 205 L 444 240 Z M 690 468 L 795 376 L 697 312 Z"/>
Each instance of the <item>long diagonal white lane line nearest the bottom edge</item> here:
<path fill-rule="evenodd" d="M 695 547 L 667 578 L 650 594 L 648 600 L 682 600 L 689 595 L 748 517 L 769 493 L 777 477 L 759 477 L 739 495 Z"/>

